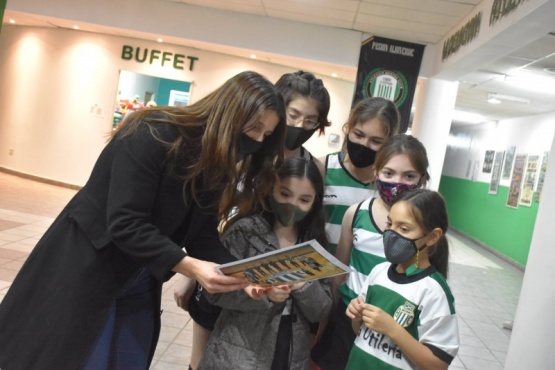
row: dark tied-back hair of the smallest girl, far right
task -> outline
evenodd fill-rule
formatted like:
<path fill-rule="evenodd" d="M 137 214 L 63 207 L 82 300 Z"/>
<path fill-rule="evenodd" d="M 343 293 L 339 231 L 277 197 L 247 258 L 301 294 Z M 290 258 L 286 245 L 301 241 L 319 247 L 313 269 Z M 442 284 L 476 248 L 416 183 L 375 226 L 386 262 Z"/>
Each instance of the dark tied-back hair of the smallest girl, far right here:
<path fill-rule="evenodd" d="M 447 206 L 440 193 L 426 189 L 414 189 L 403 192 L 396 202 L 405 202 L 409 211 L 426 233 L 440 228 L 443 234 L 436 244 L 429 246 L 430 263 L 447 278 L 449 269 L 449 243 L 447 229 L 449 218 Z"/>

